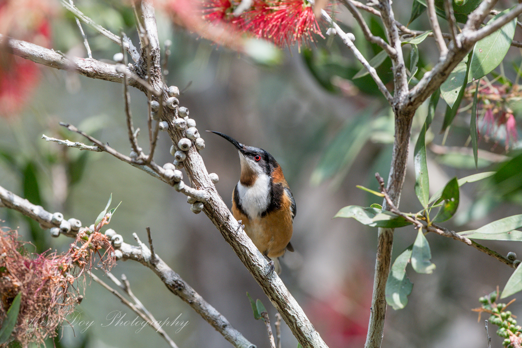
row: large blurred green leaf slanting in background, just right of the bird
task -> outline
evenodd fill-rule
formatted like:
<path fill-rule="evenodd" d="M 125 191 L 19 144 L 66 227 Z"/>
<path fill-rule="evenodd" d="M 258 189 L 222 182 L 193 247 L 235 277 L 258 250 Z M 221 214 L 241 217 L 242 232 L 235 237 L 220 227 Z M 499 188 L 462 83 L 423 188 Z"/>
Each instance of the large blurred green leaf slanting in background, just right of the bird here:
<path fill-rule="evenodd" d="M 369 108 L 363 113 L 354 115 L 353 121 L 339 131 L 312 173 L 310 178 L 312 184 L 321 184 L 333 176 L 340 181 L 346 175 L 357 154 L 370 138 L 373 113 L 374 110 Z"/>

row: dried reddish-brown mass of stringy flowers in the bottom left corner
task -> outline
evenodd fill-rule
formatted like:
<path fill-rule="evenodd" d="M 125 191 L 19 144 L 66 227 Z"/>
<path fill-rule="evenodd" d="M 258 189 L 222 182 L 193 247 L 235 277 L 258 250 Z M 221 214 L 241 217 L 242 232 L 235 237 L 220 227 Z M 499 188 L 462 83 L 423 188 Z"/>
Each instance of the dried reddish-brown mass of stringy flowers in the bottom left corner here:
<path fill-rule="evenodd" d="M 105 235 L 80 230 L 70 249 L 56 253 L 29 254 L 17 231 L 0 228 L 0 322 L 18 293 L 21 305 L 11 337 L 22 346 L 42 344 L 81 301 L 79 285 L 85 289 L 85 271 L 100 257 L 99 266 L 110 270 L 114 249 Z M 100 249 L 105 249 L 103 255 Z"/>

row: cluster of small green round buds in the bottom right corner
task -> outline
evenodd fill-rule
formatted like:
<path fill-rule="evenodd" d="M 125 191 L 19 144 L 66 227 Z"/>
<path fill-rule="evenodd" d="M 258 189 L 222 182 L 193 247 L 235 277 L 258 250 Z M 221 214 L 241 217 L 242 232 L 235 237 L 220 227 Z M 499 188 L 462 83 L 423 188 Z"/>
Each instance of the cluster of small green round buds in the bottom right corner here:
<path fill-rule="evenodd" d="M 488 296 L 482 296 L 479 298 L 479 302 L 482 304 L 482 309 L 487 313 L 490 313 L 489 322 L 499 327 L 496 330 L 496 334 L 504 338 L 502 345 L 505 347 L 520 346 L 522 343 L 522 336 L 520 330 L 522 327 L 517 325 L 511 311 L 506 310 L 507 305 L 505 303 L 495 303 L 498 293 L 492 292 Z"/>

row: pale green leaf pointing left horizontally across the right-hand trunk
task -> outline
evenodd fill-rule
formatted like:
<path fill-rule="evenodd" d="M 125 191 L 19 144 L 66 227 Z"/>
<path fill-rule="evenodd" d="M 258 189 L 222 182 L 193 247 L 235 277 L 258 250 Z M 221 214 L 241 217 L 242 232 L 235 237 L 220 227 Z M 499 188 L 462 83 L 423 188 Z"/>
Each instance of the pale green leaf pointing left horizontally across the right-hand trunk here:
<path fill-rule="evenodd" d="M 390 211 L 360 206 L 344 207 L 335 214 L 334 218 L 353 218 L 363 225 L 389 229 L 411 225 L 411 222 Z"/>

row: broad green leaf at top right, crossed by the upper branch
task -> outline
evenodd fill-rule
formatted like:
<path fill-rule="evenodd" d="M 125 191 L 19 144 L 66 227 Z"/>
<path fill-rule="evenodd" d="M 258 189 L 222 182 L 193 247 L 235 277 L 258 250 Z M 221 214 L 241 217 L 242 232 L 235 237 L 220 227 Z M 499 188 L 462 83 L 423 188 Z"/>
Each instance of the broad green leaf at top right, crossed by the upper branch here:
<path fill-rule="evenodd" d="M 491 18 L 488 25 L 495 19 L 505 15 L 514 7 L 508 8 L 495 17 Z M 501 29 L 478 41 L 473 47 L 471 56 L 471 67 L 469 69 L 468 82 L 475 81 L 488 75 L 499 66 L 511 46 L 515 35 L 517 19 L 514 18 Z"/>

